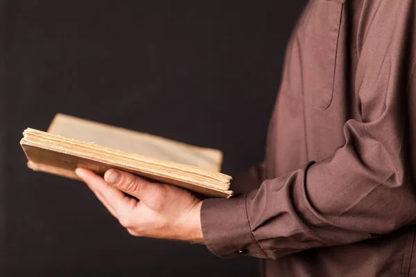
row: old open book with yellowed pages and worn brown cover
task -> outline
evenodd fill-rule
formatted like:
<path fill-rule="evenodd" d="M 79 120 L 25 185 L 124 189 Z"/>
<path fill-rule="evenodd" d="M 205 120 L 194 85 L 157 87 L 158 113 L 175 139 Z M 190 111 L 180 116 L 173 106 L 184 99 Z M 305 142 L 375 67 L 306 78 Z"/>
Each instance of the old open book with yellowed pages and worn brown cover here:
<path fill-rule="evenodd" d="M 230 197 L 223 154 L 151 134 L 57 114 L 47 132 L 27 128 L 20 144 L 28 167 L 78 179 L 77 167 L 103 175 L 118 168 L 207 197 Z"/>

